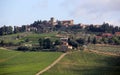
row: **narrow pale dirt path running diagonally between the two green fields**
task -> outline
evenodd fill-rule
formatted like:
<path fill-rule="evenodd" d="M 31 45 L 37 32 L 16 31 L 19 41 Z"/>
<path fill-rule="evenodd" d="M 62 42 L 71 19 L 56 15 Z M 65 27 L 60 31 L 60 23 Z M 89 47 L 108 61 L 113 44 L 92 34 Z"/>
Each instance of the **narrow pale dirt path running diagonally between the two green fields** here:
<path fill-rule="evenodd" d="M 49 66 L 47 66 L 45 69 L 41 70 L 40 72 L 38 72 L 35 75 L 40 75 L 43 72 L 49 70 L 51 67 L 53 67 L 57 62 L 59 62 L 67 53 L 62 54 L 59 58 L 57 58 L 52 64 L 50 64 Z"/>

